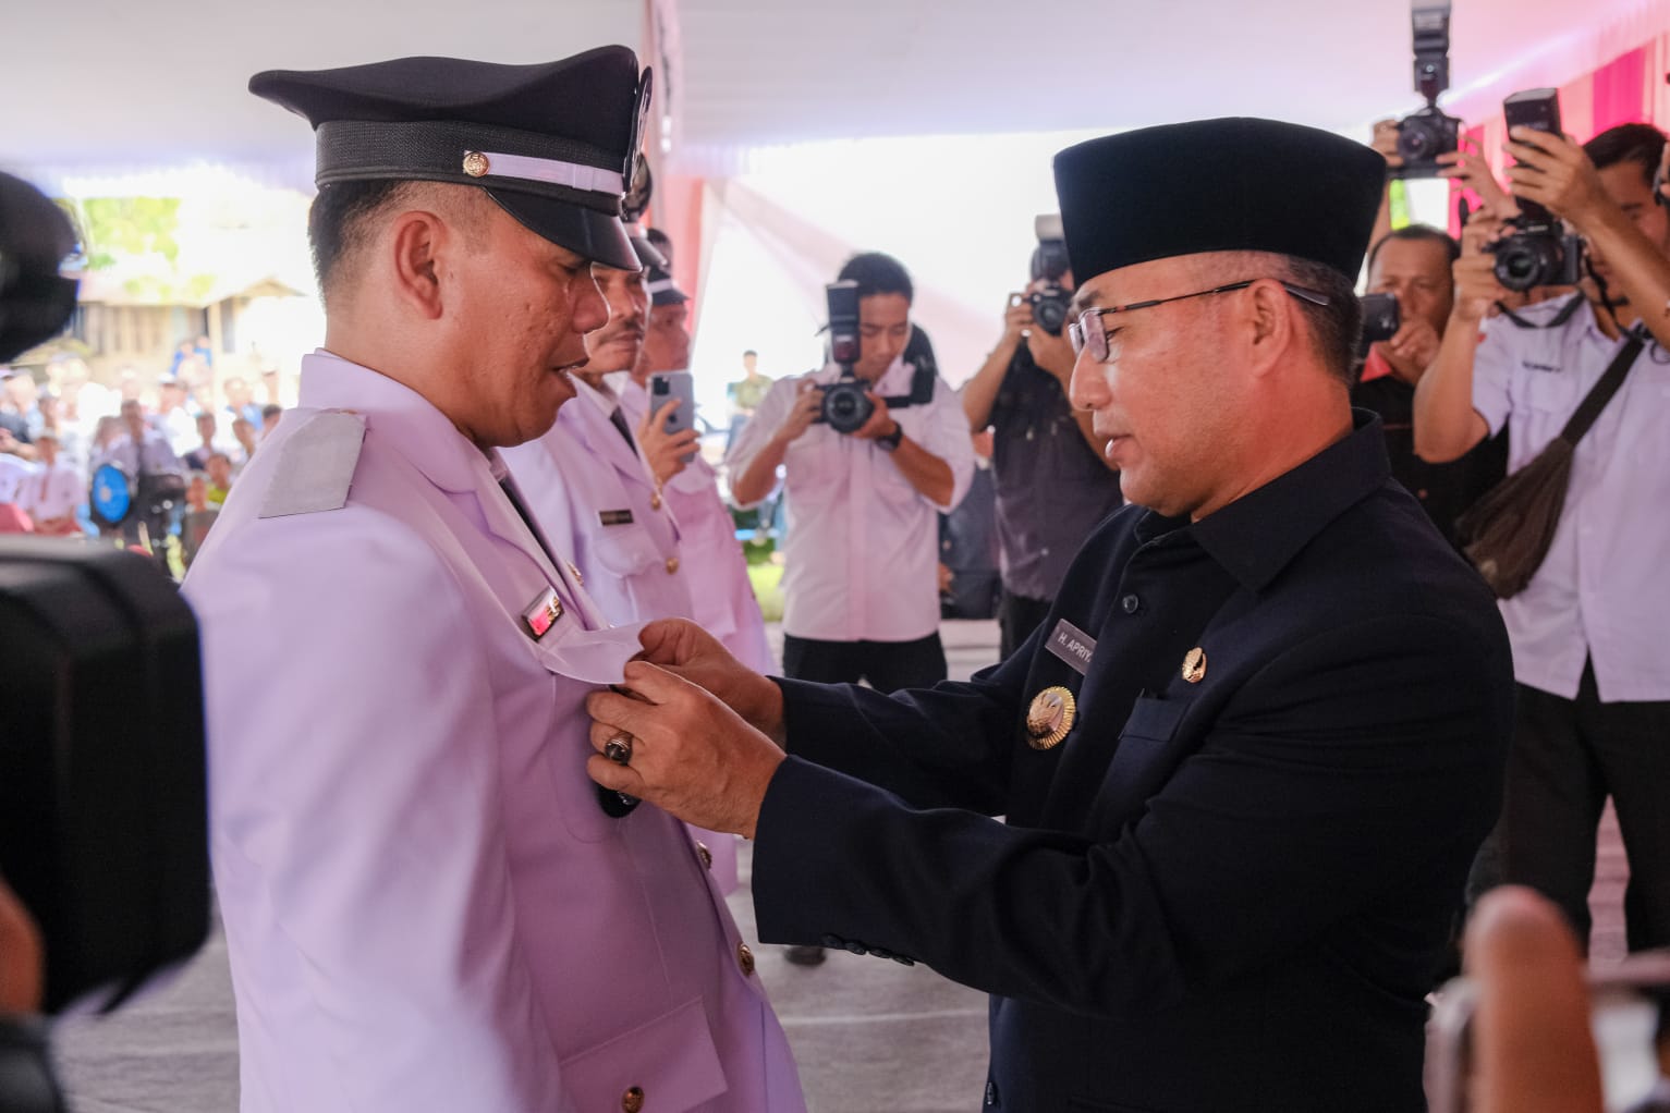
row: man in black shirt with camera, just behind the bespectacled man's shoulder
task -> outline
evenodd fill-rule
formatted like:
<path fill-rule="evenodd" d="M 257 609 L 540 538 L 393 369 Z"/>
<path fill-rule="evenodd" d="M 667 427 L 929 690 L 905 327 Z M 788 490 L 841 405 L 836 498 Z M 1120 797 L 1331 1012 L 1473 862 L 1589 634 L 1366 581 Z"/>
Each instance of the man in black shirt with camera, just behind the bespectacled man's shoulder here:
<path fill-rule="evenodd" d="M 1501 481 L 1506 436 L 1480 442 L 1460 461 L 1428 464 L 1414 454 L 1414 385 L 1438 355 L 1455 304 L 1451 267 L 1461 245 L 1425 224 L 1391 232 L 1368 254 L 1368 289 L 1398 299 L 1399 327 L 1369 347 L 1351 404 L 1379 414 L 1391 474 L 1421 501 L 1438 532 L 1455 542 L 1456 517 Z"/>

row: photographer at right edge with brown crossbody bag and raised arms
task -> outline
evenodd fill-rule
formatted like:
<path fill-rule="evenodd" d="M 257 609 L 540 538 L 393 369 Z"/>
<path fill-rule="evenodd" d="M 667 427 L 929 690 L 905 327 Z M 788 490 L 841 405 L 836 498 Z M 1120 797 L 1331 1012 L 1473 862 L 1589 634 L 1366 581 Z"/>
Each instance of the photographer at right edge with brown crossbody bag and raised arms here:
<path fill-rule="evenodd" d="M 1510 476 L 1565 429 L 1625 347 L 1652 330 L 1617 395 L 1571 452 L 1553 541 L 1528 582 L 1503 599 L 1518 679 L 1515 744 L 1500 839 L 1501 878 L 1555 899 L 1586 941 L 1595 829 L 1613 798 L 1630 858 L 1632 949 L 1670 943 L 1670 501 L 1665 350 L 1670 219 L 1653 204 L 1665 138 L 1623 123 L 1583 147 L 1513 128 L 1510 179 L 1588 240 L 1580 292 L 1500 312 L 1506 290 L 1475 222 L 1455 265 L 1456 300 L 1438 357 L 1414 395 L 1416 451 L 1451 461 L 1510 431 Z M 1511 225 L 1510 225 L 1511 230 Z M 1503 240 L 1498 240 L 1498 247 Z"/>

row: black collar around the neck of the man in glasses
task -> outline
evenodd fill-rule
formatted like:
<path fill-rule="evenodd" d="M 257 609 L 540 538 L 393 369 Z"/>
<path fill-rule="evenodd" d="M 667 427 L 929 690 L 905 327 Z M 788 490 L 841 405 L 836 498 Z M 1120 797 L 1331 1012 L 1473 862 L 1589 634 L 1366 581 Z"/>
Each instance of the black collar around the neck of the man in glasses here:
<path fill-rule="evenodd" d="M 1186 531 L 1242 587 L 1263 591 L 1331 521 L 1391 477 L 1379 415 L 1354 409 L 1351 424 L 1344 439 L 1194 524 L 1149 511 L 1136 524 L 1137 541 Z"/>

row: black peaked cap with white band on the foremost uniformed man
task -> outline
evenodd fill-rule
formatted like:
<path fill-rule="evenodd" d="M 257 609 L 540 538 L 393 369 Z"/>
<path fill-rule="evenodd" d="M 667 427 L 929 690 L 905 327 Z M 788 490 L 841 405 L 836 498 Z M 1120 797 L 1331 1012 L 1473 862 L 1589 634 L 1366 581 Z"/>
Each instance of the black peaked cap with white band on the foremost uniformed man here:
<path fill-rule="evenodd" d="M 650 107 L 650 72 L 626 47 L 501 65 L 394 58 L 267 70 L 249 92 L 306 117 L 316 182 L 479 185 L 518 222 L 586 259 L 636 269 L 621 194 Z"/>

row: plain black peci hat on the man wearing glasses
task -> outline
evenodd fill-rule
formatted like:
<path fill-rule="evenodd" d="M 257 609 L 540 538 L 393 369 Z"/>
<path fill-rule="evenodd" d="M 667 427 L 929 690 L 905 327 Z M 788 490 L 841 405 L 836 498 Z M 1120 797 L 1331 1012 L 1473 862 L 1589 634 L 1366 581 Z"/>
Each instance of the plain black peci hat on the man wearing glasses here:
<path fill-rule="evenodd" d="M 1386 184 L 1368 147 L 1224 118 L 1107 135 L 1055 155 L 1074 279 L 1201 252 L 1276 252 L 1356 280 Z"/>

